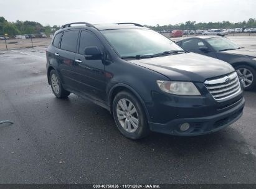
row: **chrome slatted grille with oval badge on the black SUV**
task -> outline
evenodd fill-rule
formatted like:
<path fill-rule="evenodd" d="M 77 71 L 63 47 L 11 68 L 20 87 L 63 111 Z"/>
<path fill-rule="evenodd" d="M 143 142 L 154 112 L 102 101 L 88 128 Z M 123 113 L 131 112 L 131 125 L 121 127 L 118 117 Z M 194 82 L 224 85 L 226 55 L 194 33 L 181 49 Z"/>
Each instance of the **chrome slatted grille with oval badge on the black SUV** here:
<path fill-rule="evenodd" d="M 216 100 L 229 98 L 230 96 L 239 93 L 241 90 L 236 72 L 215 80 L 206 80 L 204 85 L 206 85 L 207 90 L 209 90 Z"/>

